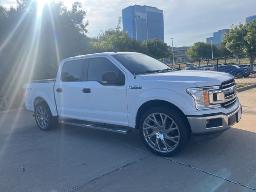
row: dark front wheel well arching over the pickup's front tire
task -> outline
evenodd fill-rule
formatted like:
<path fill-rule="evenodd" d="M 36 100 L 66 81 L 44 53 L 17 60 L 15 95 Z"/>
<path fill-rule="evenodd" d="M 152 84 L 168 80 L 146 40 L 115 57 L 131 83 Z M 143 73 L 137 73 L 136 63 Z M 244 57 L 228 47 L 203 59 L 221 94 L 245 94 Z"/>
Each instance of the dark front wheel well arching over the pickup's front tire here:
<path fill-rule="evenodd" d="M 140 118 L 142 117 L 142 115 L 144 114 L 144 112 L 146 112 L 147 110 L 149 110 L 150 108 L 156 107 L 156 106 L 164 106 L 164 107 L 168 107 L 174 111 L 176 111 L 176 113 L 179 113 L 180 115 L 185 117 L 185 114 L 182 112 L 182 110 L 180 110 L 176 105 L 168 102 L 168 101 L 164 101 L 164 100 L 150 100 L 145 102 L 144 104 L 142 104 L 140 106 L 140 108 L 138 109 L 137 115 L 136 115 L 136 126 L 135 128 L 138 129 L 138 125 L 140 123 Z M 189 122 L 187 120 L 187 118 L 185 118 L 188 125 Z M 189 126 L 189 129 L 191 131 L 191 128 Z"/>

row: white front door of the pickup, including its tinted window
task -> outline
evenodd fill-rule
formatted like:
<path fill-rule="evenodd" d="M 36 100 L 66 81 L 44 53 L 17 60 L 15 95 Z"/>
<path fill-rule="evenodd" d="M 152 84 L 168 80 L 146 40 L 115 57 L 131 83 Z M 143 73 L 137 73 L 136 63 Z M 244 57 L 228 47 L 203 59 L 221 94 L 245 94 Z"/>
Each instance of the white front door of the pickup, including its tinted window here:
<path fill-rule="evenodd" d="M 104 72 L 115 72 L 123 85 L 102 83 Z M 84 117 L 88 121 L 128 126 L 125 72 L 110 58 L 89 58 L 82 82 Z"/>

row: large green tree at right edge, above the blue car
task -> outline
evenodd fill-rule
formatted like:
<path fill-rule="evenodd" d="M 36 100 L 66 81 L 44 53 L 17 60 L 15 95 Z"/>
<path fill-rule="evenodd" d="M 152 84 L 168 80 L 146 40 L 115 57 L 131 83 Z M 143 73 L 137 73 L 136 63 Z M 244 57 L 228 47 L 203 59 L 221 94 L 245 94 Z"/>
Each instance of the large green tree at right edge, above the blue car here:
<path fill-rule="evenodd" d="M 231 29 L 223 38 L 227 50 L 234 54 L 247 54 L 256 52 L 256 20 L 248 24 L 240 23 L 238 26 L 232 25 Z M 256 54 L 248 54 L 251 68 L 253 68 Z"/>

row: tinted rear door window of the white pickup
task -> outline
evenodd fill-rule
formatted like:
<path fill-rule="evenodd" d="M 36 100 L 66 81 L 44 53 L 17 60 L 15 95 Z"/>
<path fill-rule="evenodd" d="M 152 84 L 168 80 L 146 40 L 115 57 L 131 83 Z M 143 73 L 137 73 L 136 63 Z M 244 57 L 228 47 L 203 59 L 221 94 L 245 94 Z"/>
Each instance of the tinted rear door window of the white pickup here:
<path fill-rule="evenodd" d="M 60 80 L 68 81 L 82 81 L 82 71 L 84 69 L 85 60 L 74 60 L 64 63 L 62 68 Z"/>

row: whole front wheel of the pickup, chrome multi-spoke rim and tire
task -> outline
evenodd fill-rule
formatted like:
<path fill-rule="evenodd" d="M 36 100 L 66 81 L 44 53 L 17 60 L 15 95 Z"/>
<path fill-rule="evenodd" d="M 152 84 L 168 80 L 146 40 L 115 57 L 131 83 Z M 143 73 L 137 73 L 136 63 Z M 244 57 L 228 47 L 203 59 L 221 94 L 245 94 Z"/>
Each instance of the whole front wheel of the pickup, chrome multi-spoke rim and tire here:
<path fill-rule="evenodd" d="M 144 112 L 139 123 L 140 137 L 154 154 L 172 156 L 182 151 L 190 139 L 186 116 L 171 106 L 157 106 Z"/>

